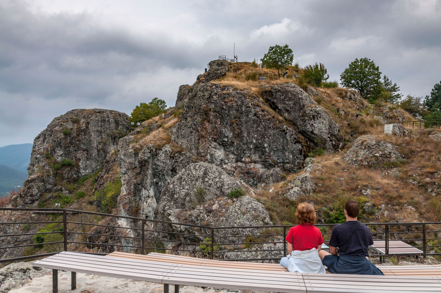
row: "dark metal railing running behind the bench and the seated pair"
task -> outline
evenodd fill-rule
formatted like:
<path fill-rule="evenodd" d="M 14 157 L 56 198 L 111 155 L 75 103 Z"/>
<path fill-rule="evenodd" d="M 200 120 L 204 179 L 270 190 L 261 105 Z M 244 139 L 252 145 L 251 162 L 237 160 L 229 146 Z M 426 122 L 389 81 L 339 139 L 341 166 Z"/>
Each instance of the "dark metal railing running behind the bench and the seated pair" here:
<path fill-rule="evenodd" d="M 62 213 L 62 221 L 35 221 L 35 222 L 0 222 L 3 225 L 63 225 L 63 230 L 52 232 L 12 233 L 1 234 L 4 237 L 26 237 L 34 235 L 58 234 L 62 240 L 53 242 L 27 243 L 31 238 L 21 239 L 19 245 L 0 247 L 0 254 L 4 250 L 24 247 L 41 247 L 45 245 L 58 245 L 57 251 L 41 251 L 33 255 L 5 258 L 2 256 L 0 263 L 14 262 L 23 259 L 35 259 L 56 254 L 60 251 L 77 251 L 78 248 L 90 249 L 95 254 L 106 254 L 116 250 L 125 250 L 134 253 L 146 254 L 149 252 L 171 252 L 198 256 L 209 259 L 240 260 L 240 261 L 276 261 L 287 255 L 286 235 L 292 225 L 272 226 L 241 226 L 241 227 L 210 227 L 205 225 L 192 225 L 185 223 L 151 220 L 145 218 L 127 217 L 114 214 L 102 214 L 81 210 L 69 209 L 38 209 L 38 208 L 0 208 L 2 211 L 16 213 Z M 96 216 L 97 218 L 87 218 Z M 109 222 L 102 222 L 109 218 Z M 128 221 L 127 226 L 113 223 Z M 100 222 L 101 221 L 101 222 Z M 337 224 L 317 224 L 329 244 L 329 237 L 333 226 Z M 441 222 L 418 223 L 367 223 L 373 234 L 374 240 L 384 240 L 384 253 L 370 250 L 371 257 L 389 257 L 392 255 L 441 255 Z M 80 228 L 95 227 L 93 230 Z M 74 228 L 74 229 L 72 229 Z M 101 229 L 101 230 L 100 230 Z M 108 229 L 108 230 L 106 230 Z M 115 230 L 120 229 L 120 232 Z M 2 229 L 4 231 L 4 229 Z M 83 232 L 81 232 L 83 231 Z M 83 239 L 78 239 L 83 237 Z M 93 240 L 93 238 L 97 238 Z M 391 252 L 389 242 L 400 240 L 406 244 L 403 247 L 420 249 L 421 252 Z"/>

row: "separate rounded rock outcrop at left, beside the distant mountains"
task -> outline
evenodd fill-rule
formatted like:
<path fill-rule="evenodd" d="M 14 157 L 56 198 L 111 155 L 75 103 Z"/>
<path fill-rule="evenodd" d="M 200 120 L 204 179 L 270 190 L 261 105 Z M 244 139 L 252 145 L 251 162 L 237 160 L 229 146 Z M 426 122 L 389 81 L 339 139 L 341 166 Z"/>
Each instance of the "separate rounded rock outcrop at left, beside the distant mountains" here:
<path fill-rule="evenodd" d="M 112 110 L 76 109 L 56 117 L 34 139 L 19 205 L 46 192 L 66 192 L 57 180 L 73 183 L 97 170 L 129 128 L 127 114 Z"/>

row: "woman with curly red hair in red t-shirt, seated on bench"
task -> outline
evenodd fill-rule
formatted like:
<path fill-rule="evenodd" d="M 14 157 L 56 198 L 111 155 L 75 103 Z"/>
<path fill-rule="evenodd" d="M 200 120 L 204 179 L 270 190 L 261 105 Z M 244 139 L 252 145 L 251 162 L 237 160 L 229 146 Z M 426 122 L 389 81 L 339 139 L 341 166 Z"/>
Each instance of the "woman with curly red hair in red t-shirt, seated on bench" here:
<path fill-rule="evenodd" d="M 325 274 L 325 267 L 318 256 L 323 236 L 314 226 L 317 219 L 314 206 L 300 203 L 295 216 L 299 225 L 292 227 L 286 236 L 289 254 L 280 259 L 280 266 L 286 267 L 290 272 Z"/>

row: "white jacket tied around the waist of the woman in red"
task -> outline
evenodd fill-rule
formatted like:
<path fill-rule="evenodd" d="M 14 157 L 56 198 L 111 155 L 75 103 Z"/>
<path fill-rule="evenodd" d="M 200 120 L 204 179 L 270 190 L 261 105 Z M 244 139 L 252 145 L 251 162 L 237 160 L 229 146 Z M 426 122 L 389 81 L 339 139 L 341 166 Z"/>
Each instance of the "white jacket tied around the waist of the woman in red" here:
<path fill-rule="evenodd" d="M 288 267 L 285 265 L 286 260 L 288 260 Z M 283 262 L 283 266 L 290 272 L 326 274 L 316 248 L 305 251 L 293 250 L 286 260 Z M 280 262 L 280 265 L 282 265 L 282 262 Z"/>

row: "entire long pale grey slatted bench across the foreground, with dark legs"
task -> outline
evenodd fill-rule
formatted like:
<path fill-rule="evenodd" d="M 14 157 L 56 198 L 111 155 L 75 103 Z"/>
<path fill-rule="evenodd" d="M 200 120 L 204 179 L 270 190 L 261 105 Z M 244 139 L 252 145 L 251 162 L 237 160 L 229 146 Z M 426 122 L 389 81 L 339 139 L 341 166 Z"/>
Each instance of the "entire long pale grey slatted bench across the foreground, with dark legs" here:
<path fill-rule="evenodd" d="M 167 258 L 176 259 L 176 257 L 164 257 L 163 259 Z M 211 263 L 214 265 L 220 262 L 212 261 Z M 441 292 L 441 278 L 435 276 L 300 274 L 275 270 L 168 263 L 78 252 L 60 252 L 46 259 L 38 260 L 33 265 L 34 267 L 52 269 L 52 291 L 54 293 L 58 292 L 58 270 L 72 272 L 72 289 L 76 288 L 76 272 L 81 272 L 162 283 L 164 284 L 164 293 L 168 293 L 169 285 L 175 285 L 176 293 L 179 292 L 179 285 L 284 293 Z"/>

